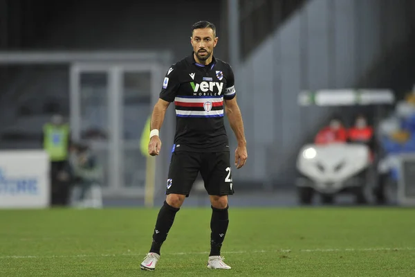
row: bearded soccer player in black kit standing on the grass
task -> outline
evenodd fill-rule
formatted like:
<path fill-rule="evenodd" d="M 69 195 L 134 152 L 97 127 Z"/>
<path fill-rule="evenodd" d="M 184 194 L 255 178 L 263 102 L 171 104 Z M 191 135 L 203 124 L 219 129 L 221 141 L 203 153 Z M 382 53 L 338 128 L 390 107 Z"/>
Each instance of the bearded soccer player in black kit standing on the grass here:
<path fill-rule="evenodd" d="M 223 111 L 237 137 L 236 168 L 248 158 L 241 111 L 235 98 L 234 74 L 229 64 L 216 59 L 216 28 L 208 21 L 192 26 L 192 54 L 173 64 L 163 81 L 160 99 L 151 115 L 149 154 L 158 155 L 158 136 L 169 103 L 176 106 L 176 134 L 167 176 L 166 200 L 160 208 L 151 249 L 141 269 L 154 270 L 160 259 L 160 247 L 167 238 L 176 213 L 199 171 L 210 195 L 210 255 L 208 268 L 230 269 L 223 262 L 221 247 L 228 229 L 228 195 L 234 193 L 228 136 L 223 125 Z"/>

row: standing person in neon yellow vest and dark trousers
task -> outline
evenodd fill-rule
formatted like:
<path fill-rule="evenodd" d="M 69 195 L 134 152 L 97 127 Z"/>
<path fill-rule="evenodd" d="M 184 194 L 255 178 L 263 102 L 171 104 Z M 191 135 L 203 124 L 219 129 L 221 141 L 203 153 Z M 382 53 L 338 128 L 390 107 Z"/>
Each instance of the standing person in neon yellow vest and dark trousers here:
<path fill-rule="evenodd" d="M 66 206 L 71 189 L 71 169 L 68 163 L 71 133 L 61 115 L 55 114 L 43 127 L 42 145 L 49 155 L 52 205 Z"/>

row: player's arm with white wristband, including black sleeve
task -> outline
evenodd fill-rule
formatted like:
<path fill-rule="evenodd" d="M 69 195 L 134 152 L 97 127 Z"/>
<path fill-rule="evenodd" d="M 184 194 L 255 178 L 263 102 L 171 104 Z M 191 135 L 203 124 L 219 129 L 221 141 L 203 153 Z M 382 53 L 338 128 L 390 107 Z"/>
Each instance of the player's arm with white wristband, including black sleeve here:
<path fill-rule="evenodd" d="M 176 98 L 178 87 L 180 87 L 178 72 L 173 65 L 169 68 L 169 71 L 167 71 L 165 75 L 163 80 L 163 89 L 160 92 L 160 98 L 158 99 L 156 105 L 154 105 L 153 113 L 151 114 L 151 133 L 149 142 L 149 154 L 151 156 L 156 156 L 160 153 L 161 141 L 158 131 L 160 131 L 160 128 L 163 125 L 165 114 L 170 102 L 173 102 L 174 98 Z"/>

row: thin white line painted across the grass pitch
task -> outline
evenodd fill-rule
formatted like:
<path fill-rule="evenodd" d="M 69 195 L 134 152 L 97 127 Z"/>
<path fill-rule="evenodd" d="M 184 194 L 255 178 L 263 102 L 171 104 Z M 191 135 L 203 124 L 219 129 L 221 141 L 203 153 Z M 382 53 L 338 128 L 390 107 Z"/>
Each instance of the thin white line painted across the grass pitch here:
<path fill-rule="evenodd" d="M 415 247 L 396 247 L 396 248 L 346 248 L 346 249 L 277 249 L 277 250 L 252 250 L 252 251 L 223 251 L 223 254 L 243 254 L 243 253 L 290 253 L 290 252 L 358 252 L 358 251 L 415 251 Z M 36 258 L 98 258 L 98 257 L 118 257 L 118 256 L 145 256 L 146 253 L 121 253 L 121 254 L 100 254 L 100 255 L 51 255 L 51 256 L 0 256 L 0 260 L 5 259 L 36 259 Z M 176 252 L 176 253 L 165 253 L 168 255 L 205 255 L 209 254 L 205 252 Z"/>

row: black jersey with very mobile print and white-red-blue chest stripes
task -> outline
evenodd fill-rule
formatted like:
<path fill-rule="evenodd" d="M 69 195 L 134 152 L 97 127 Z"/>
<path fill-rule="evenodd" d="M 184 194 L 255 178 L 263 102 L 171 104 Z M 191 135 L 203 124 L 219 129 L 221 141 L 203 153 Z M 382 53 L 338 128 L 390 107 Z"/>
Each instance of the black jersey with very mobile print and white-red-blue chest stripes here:
<path fill-rule="evenodd" d="M 234 74 L 229 64 L 212 58 L 198 64 L 192 55 L 172 65 L 160 98 L 176 106 L 175 151 L 228 151 L 223 124 L 223 100 L 234 98 Z"/>

